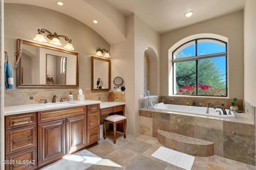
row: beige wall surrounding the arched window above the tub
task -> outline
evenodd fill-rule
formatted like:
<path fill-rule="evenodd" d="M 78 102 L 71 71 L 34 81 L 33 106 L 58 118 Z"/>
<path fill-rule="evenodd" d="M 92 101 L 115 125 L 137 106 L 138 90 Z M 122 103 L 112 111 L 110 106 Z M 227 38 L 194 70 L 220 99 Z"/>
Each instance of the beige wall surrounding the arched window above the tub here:
<path fill-rule="evenodd" d="M 212 33 L 228 38 L 228 97 L 244 98 L 243 11 L 203 21 L 161 35 L 161 96 L 168 96 L 170 59 L 168 50 L 185 37 Z M 170 66 L 169 66 L 170 64 Z"/>

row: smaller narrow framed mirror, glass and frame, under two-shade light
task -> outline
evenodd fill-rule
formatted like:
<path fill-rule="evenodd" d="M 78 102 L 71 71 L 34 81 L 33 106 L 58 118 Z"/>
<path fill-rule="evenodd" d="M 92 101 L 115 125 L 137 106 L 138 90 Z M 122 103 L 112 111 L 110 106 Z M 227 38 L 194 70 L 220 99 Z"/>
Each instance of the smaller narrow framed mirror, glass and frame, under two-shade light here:
<path fill-rule="evenodd" d="M 92 92 L 109 91 L 111 88 L 111 61 L 92 56 Z"/>

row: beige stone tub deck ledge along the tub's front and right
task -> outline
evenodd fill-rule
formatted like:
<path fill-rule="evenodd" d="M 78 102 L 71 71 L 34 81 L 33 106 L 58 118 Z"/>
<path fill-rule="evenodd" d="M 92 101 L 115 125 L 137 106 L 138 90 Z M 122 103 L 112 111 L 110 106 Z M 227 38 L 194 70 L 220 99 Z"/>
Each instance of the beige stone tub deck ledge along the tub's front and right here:
<path fill-rule="evenodd" d="M 194 116 L 194 117 L 201 117 L 201 118 L 206 118 L 206 119 L 215 119 L 215 120 L 231 121 L 231 122 L 246 123 L 246 124 L 254 125 L 254 123 L 250 120 L 250 118 L 245 113 L 236 113 L 235 112 L 234 114 L 236 117 L 224 118 L 224 117 L 213 117 L 213 116 L 208 116 L 208 115 L 196 115 L 196 114 L 191 114 L 191 113 L 180 113 L 180 112 L 174 112 L 174 111 L 161 111 L 161 110 L 156 110 L 153 108 L 143 108 L 140 110 L 155 111 L 155 112 L 160 112 L 160 113 L 172 113 L 172 114 L 177 114 L 177 115 Z"/>

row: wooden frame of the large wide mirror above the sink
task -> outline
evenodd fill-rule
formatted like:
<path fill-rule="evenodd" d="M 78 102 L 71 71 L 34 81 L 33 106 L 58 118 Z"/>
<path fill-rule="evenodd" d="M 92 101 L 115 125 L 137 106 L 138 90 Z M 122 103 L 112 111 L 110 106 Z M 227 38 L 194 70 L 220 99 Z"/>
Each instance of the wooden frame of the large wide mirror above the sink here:
<path fill-rule="evenodd" d="M 20 41 L 21 39 L 17 39 L 17 51 L 20 49 Z M 31 41 L 22 40 L 22 44 L 32 45 L 35 47 L 40 47 L 44 49 L 50 49 L 53 51 L 58 51 L 62 53 L 67 53 L 76 56 L 76 84 L 74 85 L 66 85 L 66 84 L 22 84 L 21 74 L 22 74 L 22 57 L 20 58 L 20 62 L 17 66 L 17 88 L 78 88 L 79 86 L 79 53 L 75 53 L 73 51 L 67 51 L 64 49 L 58 49 L 56 47 L 50 47 L 47 45 L 42 45 L 38 43 L 34 43 Z"/>

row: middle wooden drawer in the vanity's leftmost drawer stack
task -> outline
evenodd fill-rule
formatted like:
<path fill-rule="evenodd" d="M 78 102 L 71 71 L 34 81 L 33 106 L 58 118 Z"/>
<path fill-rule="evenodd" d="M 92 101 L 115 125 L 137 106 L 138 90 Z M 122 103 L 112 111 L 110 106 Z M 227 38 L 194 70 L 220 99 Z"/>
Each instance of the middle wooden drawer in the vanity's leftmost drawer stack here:
<path fill-rule="evenodd" d="M 36 146 L 36 125 L 6 131 L 6 154 Z"/>

